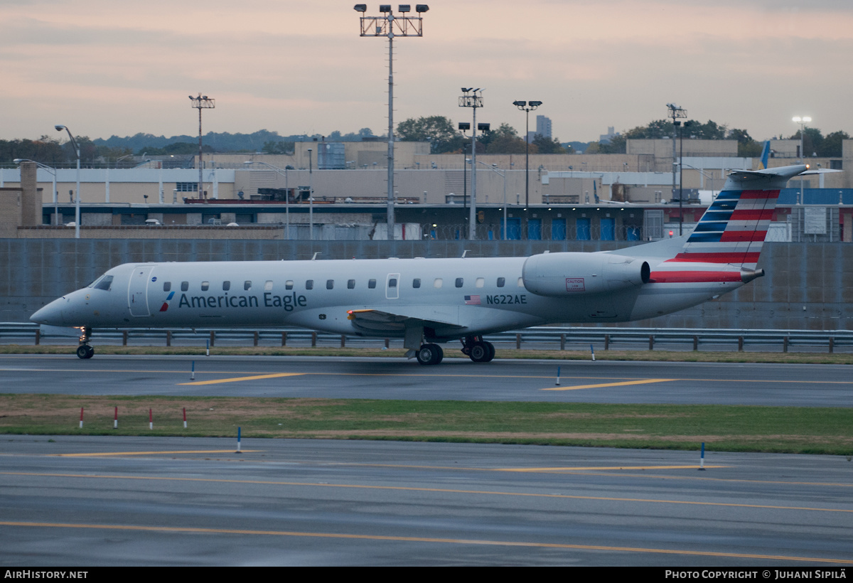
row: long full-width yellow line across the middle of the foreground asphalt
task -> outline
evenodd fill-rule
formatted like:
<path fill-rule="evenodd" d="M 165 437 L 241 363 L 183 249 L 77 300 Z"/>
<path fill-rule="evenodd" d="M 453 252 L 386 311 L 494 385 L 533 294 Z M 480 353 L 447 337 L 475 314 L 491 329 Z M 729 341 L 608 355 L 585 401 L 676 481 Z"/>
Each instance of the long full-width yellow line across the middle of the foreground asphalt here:
<path fill-rule="evenodd" d="M 779 506 L 775 504 L 740 504 L 735 502 L 700 502 L 696 500 L 668 500 L 665 498 L 617 498 L 615 496 L 581 496 L 573 494 L 543 494 L 529 492 L 500 492 L 496 490 L 460 490 L 454 488 L 428 488 L 414 486 L 368 486 L 365 484 L 341 484 L 334 482 L 274 481 L 274 480 L 227 480 L 223 478 L 176 478 L 157 475 L 109 475 L 109 474 L 49 474 L 36 472 L 0 472 L 0 475 L 32 475 L 59 478 L 89 478 L 96 480 L 148 480 L 148 481 L 200 481 L 221 484 L 247 484 L 261 486 L 297 486 L 346 488 L 353 490 L 393 490 L 395 492 L 432 492 L 445 494 L 476 494 L 479 496 L 514 496 L 519 498 L 562 498 L 567 500 L 596 500 L 600 502 L 635 502 L 643 504 L 682 504 L 687 506 L 721 506 L 727 508 L 757 508 L 763 510 L 806 510 L 811 512 L 845 512 L 853 509 L 818 508 L 814 506 Z"/>

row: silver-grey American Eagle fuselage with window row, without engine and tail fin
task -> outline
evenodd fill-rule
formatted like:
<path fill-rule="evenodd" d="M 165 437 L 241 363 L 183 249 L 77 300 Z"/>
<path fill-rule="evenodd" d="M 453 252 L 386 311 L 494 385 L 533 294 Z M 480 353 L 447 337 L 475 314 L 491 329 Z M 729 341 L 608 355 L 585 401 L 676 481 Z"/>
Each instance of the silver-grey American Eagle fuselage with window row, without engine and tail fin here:
<path fill-rule="evenodd" d="M 606 254 L 553 254 L 590 255 Z M 528 258 L 351 259 L 138 263 L 44 306 L 33 320 L 87 328 L 300 326 L 344 335 L 404 335 L 403 318 L 428 321 L 439 341 L 553 323 L 625 322 L 693 306 L 740 282 L 567 289 L 549 297 L 525 285 Z M 583 286 L 602 277 L 569 271 Z M 561 274 L 560 274 L 561 276 Z M 107 287 L 102 282 L 112 277 Z M 101 283 L 99 285 L 99 283 Z M 589 287 L 590 283 L 585 284 Z M 354 323 L 381 310 L 400 325 Z M 422 318 L 421 318 L 422 315 Z"/>

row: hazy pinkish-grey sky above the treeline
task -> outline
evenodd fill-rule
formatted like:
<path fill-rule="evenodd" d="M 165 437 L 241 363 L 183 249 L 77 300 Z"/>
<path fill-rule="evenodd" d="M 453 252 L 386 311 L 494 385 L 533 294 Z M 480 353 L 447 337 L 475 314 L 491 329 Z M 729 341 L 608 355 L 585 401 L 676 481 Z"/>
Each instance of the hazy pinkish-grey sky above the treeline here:
<path fill-rule="evenodd" d="M 215 98 L 205 131 L 281 135 L 387 128 L 387 41 L 360 38 L 347 0 L 0 0 L 0 138 L 197 134 L 189 94 Z M 392 4 L 396 9 L 397 3 Z M 398 38 L 395 125 L 470 120 L 524 131 L 514 100 L 562 141 L 665 117 L 790 135 L 793 115 L 853 133 L 850 0 L 432 0 L 423 38 Z M 378 15 L 368 3 L 367 15 Z M 414 3 L 413 3 L 414 8 Z M 535 114 L 531 114 L 535 127 Z"/>

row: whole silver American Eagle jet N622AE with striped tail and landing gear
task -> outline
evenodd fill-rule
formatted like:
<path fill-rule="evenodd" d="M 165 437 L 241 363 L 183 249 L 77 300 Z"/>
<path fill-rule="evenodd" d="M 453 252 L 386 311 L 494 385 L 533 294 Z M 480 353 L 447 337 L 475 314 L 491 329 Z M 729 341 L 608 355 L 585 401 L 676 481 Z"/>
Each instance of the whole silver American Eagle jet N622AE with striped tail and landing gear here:
<path fill-rule="evenodd" d="M 688 236 L 601 253 L 514 258 L 127 263 L 32 315 L 92 328 L 303 326 L 403 337 L 409 358 L 438 364 L 441 342 L 474 362 L 483 335 L 554 323 L 627 322 L 696 306 L 756 277 L 780 189 L 808 166 L 732 172 Z"/>

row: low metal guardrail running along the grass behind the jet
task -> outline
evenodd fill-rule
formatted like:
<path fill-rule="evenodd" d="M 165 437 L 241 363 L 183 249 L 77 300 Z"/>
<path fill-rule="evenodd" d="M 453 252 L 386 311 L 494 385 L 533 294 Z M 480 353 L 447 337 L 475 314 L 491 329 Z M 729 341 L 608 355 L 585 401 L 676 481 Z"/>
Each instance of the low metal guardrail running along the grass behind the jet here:
<path fill-rule="evenodd" d="M 69 330 L 71 330 L 69 332 Z M 76 329 L 0 324 L 0 344 L 72 344 Z M 654 350 L 853 353 L 853 330 L 659 329 L 540 326 L 486 335 L 496 347 L 525 350 Z M 401 338 L 335 335 L 301 328 L 93 329 L 96 346 L 403 347 Z"/>

